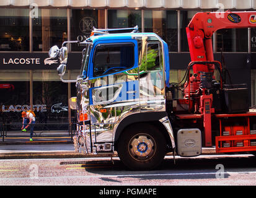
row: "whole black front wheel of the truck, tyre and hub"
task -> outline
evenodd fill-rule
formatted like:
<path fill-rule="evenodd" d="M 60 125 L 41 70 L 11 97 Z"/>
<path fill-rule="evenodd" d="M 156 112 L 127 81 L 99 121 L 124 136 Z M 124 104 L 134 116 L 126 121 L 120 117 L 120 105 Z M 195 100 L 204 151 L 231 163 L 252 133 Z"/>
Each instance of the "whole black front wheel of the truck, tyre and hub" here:
<path fill-rule="evenodd" d="M 134 124 L 118 140 L 118 155 L 131 170 L 152 170 L 166 155 L 166 139 L 151 124 Z"/>

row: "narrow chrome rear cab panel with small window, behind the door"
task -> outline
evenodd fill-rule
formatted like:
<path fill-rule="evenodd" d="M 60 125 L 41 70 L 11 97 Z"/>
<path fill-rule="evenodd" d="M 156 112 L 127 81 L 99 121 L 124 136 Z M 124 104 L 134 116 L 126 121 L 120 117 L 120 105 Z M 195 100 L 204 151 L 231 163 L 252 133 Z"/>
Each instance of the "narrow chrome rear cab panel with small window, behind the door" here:
<path fill-rule="evenodd" d="M 161 43 L 148 38 L 139 66 L 141 110 L 165 111 L 164 75 Z"/>

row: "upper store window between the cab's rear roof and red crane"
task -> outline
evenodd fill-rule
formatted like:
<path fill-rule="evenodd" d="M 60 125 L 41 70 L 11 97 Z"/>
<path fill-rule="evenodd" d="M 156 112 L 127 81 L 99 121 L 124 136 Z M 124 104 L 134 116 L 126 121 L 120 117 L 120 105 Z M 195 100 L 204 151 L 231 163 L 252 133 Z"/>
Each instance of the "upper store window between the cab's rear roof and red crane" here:
<path fill-rule="evenodd" d="M 144 32 L 156 33 L 169 51 L 178 51 L 177 11 L 144 11 Z"/>

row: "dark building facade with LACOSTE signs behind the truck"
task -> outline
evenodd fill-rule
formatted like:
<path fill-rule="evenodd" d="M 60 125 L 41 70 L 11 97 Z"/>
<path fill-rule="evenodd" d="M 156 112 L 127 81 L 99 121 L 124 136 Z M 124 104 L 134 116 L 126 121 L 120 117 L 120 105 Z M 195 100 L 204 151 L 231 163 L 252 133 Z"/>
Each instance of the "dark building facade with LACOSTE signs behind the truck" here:
<path fill-rule="evenodd" d="M 64 84 L 58 63 L 48 59 L 53 45 L 85 40 L 93 27 L 155 32 L 169 46 L 170 81 L 179 82 L 190 62 L 187 27 L 196 12 L 254 11 L 255 0 L 1 0 L 0 123 L 20 123 L 33 105 L 40 122 L 69 123 L 68 98 L 75 84 Z M 232 84 L 246 83 L 256 105 L 256 28 L 223 29 L 213 36 L 214 56 L 229 69 Z M 69 48 L 68 72 L 76 79 L 82 46 Z"/>

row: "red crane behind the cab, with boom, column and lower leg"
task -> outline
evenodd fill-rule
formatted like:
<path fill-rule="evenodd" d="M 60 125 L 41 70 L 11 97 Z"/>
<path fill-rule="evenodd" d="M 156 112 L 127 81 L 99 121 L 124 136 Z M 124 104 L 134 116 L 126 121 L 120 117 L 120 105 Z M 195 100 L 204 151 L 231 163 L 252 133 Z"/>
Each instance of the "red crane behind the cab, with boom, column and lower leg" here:
<path fill-rule="evenodd" d="M 214 61 L 213 56 L 213 33 L 223 28 L 248 27 L 256 27 L 256 12 L 199 12 L 193 16 L 186 28 L 194 74 L 185 84 L 183 94 L 189 102 L 192 98 L 195 104 L 195 107 L 189 106 L 189 111 L 196 112 L 199 110 L 203 116 L 206 146 L 212 145 L 211 114 L 215 113 L 214 108 L 212 108 L 213 95 L 209 92 L 210 88 L 207 87 L 207 78 L 214 79 L 214 62 L 218 62 Z M 190 65 L 188 69 L 190 69 Z M 221 71 L 221 66 L 219 70 Z M 206 85 L 202 86 L 202 79 L 206 79 Z M 223 88 L 222 81 L 221 88 Z"/>

